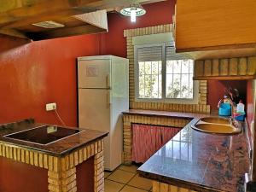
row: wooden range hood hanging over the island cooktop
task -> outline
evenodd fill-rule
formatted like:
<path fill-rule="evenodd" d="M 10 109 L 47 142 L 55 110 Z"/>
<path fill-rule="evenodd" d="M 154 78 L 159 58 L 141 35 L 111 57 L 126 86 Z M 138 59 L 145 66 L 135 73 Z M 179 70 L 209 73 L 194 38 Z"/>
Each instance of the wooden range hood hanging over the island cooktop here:
<path fill-rule="evenodd" d="M 97 10 L 160 1 L 163 0 L 0 0 L 0 33 L 41 40 L 108 32 L 107 12 Z M 74 15 L 83 15 L 86 19 L 80 20 Z M 43 21 L 54 21 L 63 27 L 32 25 Z"/>

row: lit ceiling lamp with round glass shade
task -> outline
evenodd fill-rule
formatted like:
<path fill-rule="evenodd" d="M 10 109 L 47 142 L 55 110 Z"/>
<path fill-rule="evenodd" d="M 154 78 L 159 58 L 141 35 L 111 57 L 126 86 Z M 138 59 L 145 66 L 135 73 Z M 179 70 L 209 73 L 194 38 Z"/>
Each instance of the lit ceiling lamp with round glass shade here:
<path fill-rule="evenodd" d="M 125 7 L 120 10 L 121 15 L 131 17 L 131 22 L 136 22 L 137 16 L 146 14 L 146 10 L 140 4 L 132 4 L 129 7 Z"/>

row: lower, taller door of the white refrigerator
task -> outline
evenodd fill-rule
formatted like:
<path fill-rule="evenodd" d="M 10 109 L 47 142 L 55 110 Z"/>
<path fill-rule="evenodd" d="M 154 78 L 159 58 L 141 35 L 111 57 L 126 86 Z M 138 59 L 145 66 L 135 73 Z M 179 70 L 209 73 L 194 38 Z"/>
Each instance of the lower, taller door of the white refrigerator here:
<path fill-rule="evenodd" d="M 110 91 L 79 89 L 79 128 L 109 132 L 104 139 L 104 166 L 106 170 L 112 171 L 121 163 L 122 152 L 116 152 L 116 140 L 122 142 L 122 126 L 116 127 L 112 123 Z"/>

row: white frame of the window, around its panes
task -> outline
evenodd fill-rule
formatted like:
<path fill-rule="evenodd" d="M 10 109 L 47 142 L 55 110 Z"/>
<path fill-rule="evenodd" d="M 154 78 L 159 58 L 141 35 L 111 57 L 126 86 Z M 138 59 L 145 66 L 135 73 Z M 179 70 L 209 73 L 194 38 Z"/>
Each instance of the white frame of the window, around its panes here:
<path fill-rule="evenodd" d="M 137 61 L 137 49 L 153 46 L 162 46 L 162 98 L 139 98 L 139 69 Z M 193 80 L 193 99 L 183 98 L 166 98 L 166 47 L 174 47 L 173 43 L 161 44 L 140 44 L 134 45 L 134 83 L 135 83 L 135 102 L 166 102 L 166 103 L 183 103 L 198 104 L 199 101 L 199 83 Z M 189 59 L 189 57 L 188 57 Z"/>

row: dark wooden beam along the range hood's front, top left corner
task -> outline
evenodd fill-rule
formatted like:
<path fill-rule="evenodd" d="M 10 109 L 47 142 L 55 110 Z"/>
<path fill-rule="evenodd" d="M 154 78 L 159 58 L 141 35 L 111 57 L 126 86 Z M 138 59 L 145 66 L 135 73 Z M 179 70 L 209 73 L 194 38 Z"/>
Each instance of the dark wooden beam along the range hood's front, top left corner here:
<path fill-rule="evenodd" d="M 1 1 L 4 0 L 0 0 L 0 4 L 2 4 Z M 19 0 L 10 1 L 17 2 Z M 20 0 L 19 2 L 23 1 Z M 5 7 L 4 12 L 0 9 L 0 27 L 8 26 L 20 20 L 39 19 L 46 15 L 71 16 L 88 13 L 94 11 L 96 5 L 101 3 L 102 0 L 32 0 L 30 4 L 19 3 L 19 7 L 9 3 L 9 9 Z"/>

